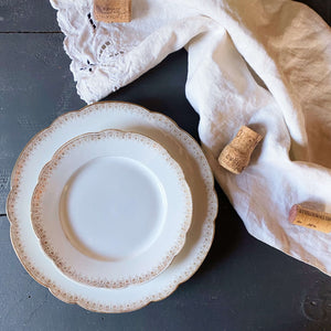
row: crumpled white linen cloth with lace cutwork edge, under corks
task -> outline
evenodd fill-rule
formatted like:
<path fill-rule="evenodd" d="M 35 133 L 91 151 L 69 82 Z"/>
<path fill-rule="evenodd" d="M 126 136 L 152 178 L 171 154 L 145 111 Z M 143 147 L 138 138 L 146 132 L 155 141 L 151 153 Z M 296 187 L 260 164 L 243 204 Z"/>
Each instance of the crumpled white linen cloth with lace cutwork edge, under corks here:
<path fill-rule="evenodd" d="M 331 212 L 331 31 L 317 13 L 288 0 L 132 0 L 130 23 L 106 24 L 92 0 L 51 3 L 86 103 L 185 46 L 203 148 L 247 231 L 331 275 L 331 234 L 288 222 L 296 203 Z M 243 125 L 264 140 L 235 175 L 216 159 Z"/>

